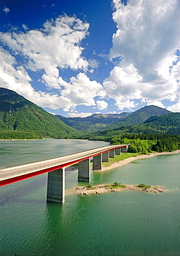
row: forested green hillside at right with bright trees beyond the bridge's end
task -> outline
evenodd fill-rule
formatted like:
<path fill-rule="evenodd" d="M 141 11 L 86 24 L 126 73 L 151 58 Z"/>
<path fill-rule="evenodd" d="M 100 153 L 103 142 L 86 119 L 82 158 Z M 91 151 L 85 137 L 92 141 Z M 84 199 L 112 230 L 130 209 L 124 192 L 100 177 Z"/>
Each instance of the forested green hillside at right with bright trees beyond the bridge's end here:
<path fill-rule="evenodd" d="M 148 118 L 140 125 L 106 129 L 88 135 L 90 140 L 130 144 L 128 152 L 149 154 L 180 149 L 180 113 Z"/>

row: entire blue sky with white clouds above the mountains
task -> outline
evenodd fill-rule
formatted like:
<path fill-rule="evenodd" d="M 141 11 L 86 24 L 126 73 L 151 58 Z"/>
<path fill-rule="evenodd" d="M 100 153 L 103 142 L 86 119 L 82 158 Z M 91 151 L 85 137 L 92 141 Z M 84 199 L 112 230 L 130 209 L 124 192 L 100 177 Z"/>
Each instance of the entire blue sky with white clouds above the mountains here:
<path fill-rule="evenodd" d="M 0 87 L 56 115 L 180 112 L 179 0 L 1 0 L 0 55 Z"/>

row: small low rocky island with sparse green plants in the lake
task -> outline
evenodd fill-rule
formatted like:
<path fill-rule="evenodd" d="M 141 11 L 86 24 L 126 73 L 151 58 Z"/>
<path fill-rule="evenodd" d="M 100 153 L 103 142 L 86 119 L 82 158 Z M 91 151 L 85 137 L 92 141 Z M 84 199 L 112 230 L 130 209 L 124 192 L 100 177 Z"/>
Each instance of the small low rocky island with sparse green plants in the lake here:
<path fill-rule="evenodd" d="M 103 184 L 103 185 L 87 185 L 86 187 L 77 187 L 75 193 L 79 195 L 88 194 L 102 194 L 107 192 L 119 192 L 123 190 L 138 190 L 149 193 L 165 192 L 166 188 L 159 185 L 145 185 L 140 183 L 139 185 L 121 185 L 121 183 L 114 182 L 113 184 Z"/>

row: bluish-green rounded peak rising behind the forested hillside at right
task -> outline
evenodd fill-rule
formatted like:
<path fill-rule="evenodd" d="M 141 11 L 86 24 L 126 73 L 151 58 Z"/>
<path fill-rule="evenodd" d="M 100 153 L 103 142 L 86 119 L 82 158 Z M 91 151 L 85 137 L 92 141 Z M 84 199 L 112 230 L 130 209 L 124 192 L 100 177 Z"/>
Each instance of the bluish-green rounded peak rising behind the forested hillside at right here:
<path fill-rule="evenodd" d="M 172 113 L 167 109 L 162 109 L 161 107 L 157 106 L 146 106 L 138 109 L 130 113 L 126 118 L 122 118 L 121 120 L 114 122 L 114 124 L 106 127 L 106 129 L 115 129 L 123 126 L 130 126 L 130 125 L 139 125 L 142 122 L 145 122 L 151 116 L 162 116 L 168 113 Z"/>

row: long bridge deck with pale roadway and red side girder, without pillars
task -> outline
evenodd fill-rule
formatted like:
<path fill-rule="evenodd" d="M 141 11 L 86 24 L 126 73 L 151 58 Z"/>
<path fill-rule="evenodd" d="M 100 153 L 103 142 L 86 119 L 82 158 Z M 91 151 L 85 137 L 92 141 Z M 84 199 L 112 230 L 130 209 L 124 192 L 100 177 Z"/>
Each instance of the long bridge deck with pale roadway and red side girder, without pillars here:
<path fill-rule="evenodd" d="M 38 161 L 37 163 L 29 163 L 26 165 L 19 165 L 15 167 L 8 167 L 0 170 L 0 186 L 8 185 L 10 183 L 28 179 L 32 176 L 37 176 L 46 172 L 52 172 L 62 167 L 67 167 L 74 163 L 79 163 L 98 154 L 116 149 L 119 147 L 127 147 L 128 144 L 110 145 L 106 147 L 98 147 L 83 152 L 70 154 L 69 156 L 60 156 L 57 158 L 48 159 L 45 161 Z"/>

